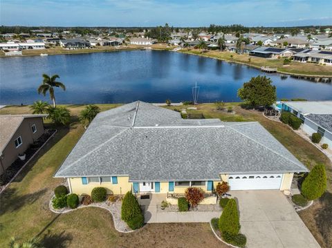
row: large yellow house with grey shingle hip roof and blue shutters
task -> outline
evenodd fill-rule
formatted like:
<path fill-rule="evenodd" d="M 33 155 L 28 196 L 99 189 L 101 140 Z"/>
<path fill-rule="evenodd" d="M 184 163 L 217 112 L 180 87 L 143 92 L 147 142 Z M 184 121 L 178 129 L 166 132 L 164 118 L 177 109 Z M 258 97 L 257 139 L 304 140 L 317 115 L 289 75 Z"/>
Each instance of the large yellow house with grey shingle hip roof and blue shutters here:
<path fill-rule="evenodd" d="M 211 193 L 222 180 L 231 190 L 291 188 L 308 169 L 258 122 L 184 120 L 145 102 L 99 113 L 55 178 L 71 192 Z"/>

